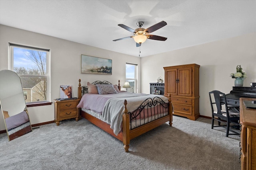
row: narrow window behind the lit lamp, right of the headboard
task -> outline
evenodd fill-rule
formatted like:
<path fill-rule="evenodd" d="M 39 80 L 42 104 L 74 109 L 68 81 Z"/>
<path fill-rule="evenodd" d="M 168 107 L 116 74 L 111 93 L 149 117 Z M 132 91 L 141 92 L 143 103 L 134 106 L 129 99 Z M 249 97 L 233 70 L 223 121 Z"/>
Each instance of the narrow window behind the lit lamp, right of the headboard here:
<path fill-rule="evenodd" d="M 127 92 L 137 92 L 137 74 L 137 64 L 126 63 L 126 81 L 130 84 Z"/>

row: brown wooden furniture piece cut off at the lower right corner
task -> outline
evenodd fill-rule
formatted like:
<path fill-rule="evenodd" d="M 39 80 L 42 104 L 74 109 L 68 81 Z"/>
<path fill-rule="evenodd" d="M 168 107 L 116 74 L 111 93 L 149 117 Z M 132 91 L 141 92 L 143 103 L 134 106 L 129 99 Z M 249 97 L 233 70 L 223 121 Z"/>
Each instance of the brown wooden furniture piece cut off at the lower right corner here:
<path fill-rule="evenodd" d="M 256 109 L 246 109 L 244 100 L 255 98 L 240 98 L 241 168 L 256 170 Z"/>

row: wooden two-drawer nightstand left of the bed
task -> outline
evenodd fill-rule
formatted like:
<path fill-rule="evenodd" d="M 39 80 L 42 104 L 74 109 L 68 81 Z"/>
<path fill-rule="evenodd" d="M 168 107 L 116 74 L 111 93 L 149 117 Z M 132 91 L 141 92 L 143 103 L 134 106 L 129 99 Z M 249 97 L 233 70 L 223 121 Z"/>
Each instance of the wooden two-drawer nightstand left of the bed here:
<path fill-rule="evenodd" d="M 53 100 L 54 101 L 54 122 L 60 125 L 60 121 L 76 118 L 78 121 L 79 108 L 76 108 L 80 99 L 75 100 Z"/>

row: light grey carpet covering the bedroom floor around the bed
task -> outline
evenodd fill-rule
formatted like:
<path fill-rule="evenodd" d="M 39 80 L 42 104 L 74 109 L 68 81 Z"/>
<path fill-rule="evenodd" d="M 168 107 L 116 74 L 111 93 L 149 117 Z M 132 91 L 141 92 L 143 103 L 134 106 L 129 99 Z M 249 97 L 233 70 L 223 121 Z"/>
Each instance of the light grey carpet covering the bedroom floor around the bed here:
<path fill-rule="evenodd" d="M 211 129 L 210 119 L 174 116 L 137 137 L 124 152 L 121 141 L 86 119 L 42 125 L 8 141 L 0 134 L 0 167 L 4 170 L 239 170 L 238 135 Z"/>

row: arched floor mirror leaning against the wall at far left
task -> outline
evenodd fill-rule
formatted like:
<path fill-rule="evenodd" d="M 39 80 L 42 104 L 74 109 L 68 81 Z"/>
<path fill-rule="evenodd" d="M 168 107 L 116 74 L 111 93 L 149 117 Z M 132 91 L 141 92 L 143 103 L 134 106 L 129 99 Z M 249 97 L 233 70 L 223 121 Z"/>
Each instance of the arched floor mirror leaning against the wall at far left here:
<path fill-rule="evenodd" d="M 0 110 L 9 141 L 32 131 L 20 77 L 0 70 Z"/>

